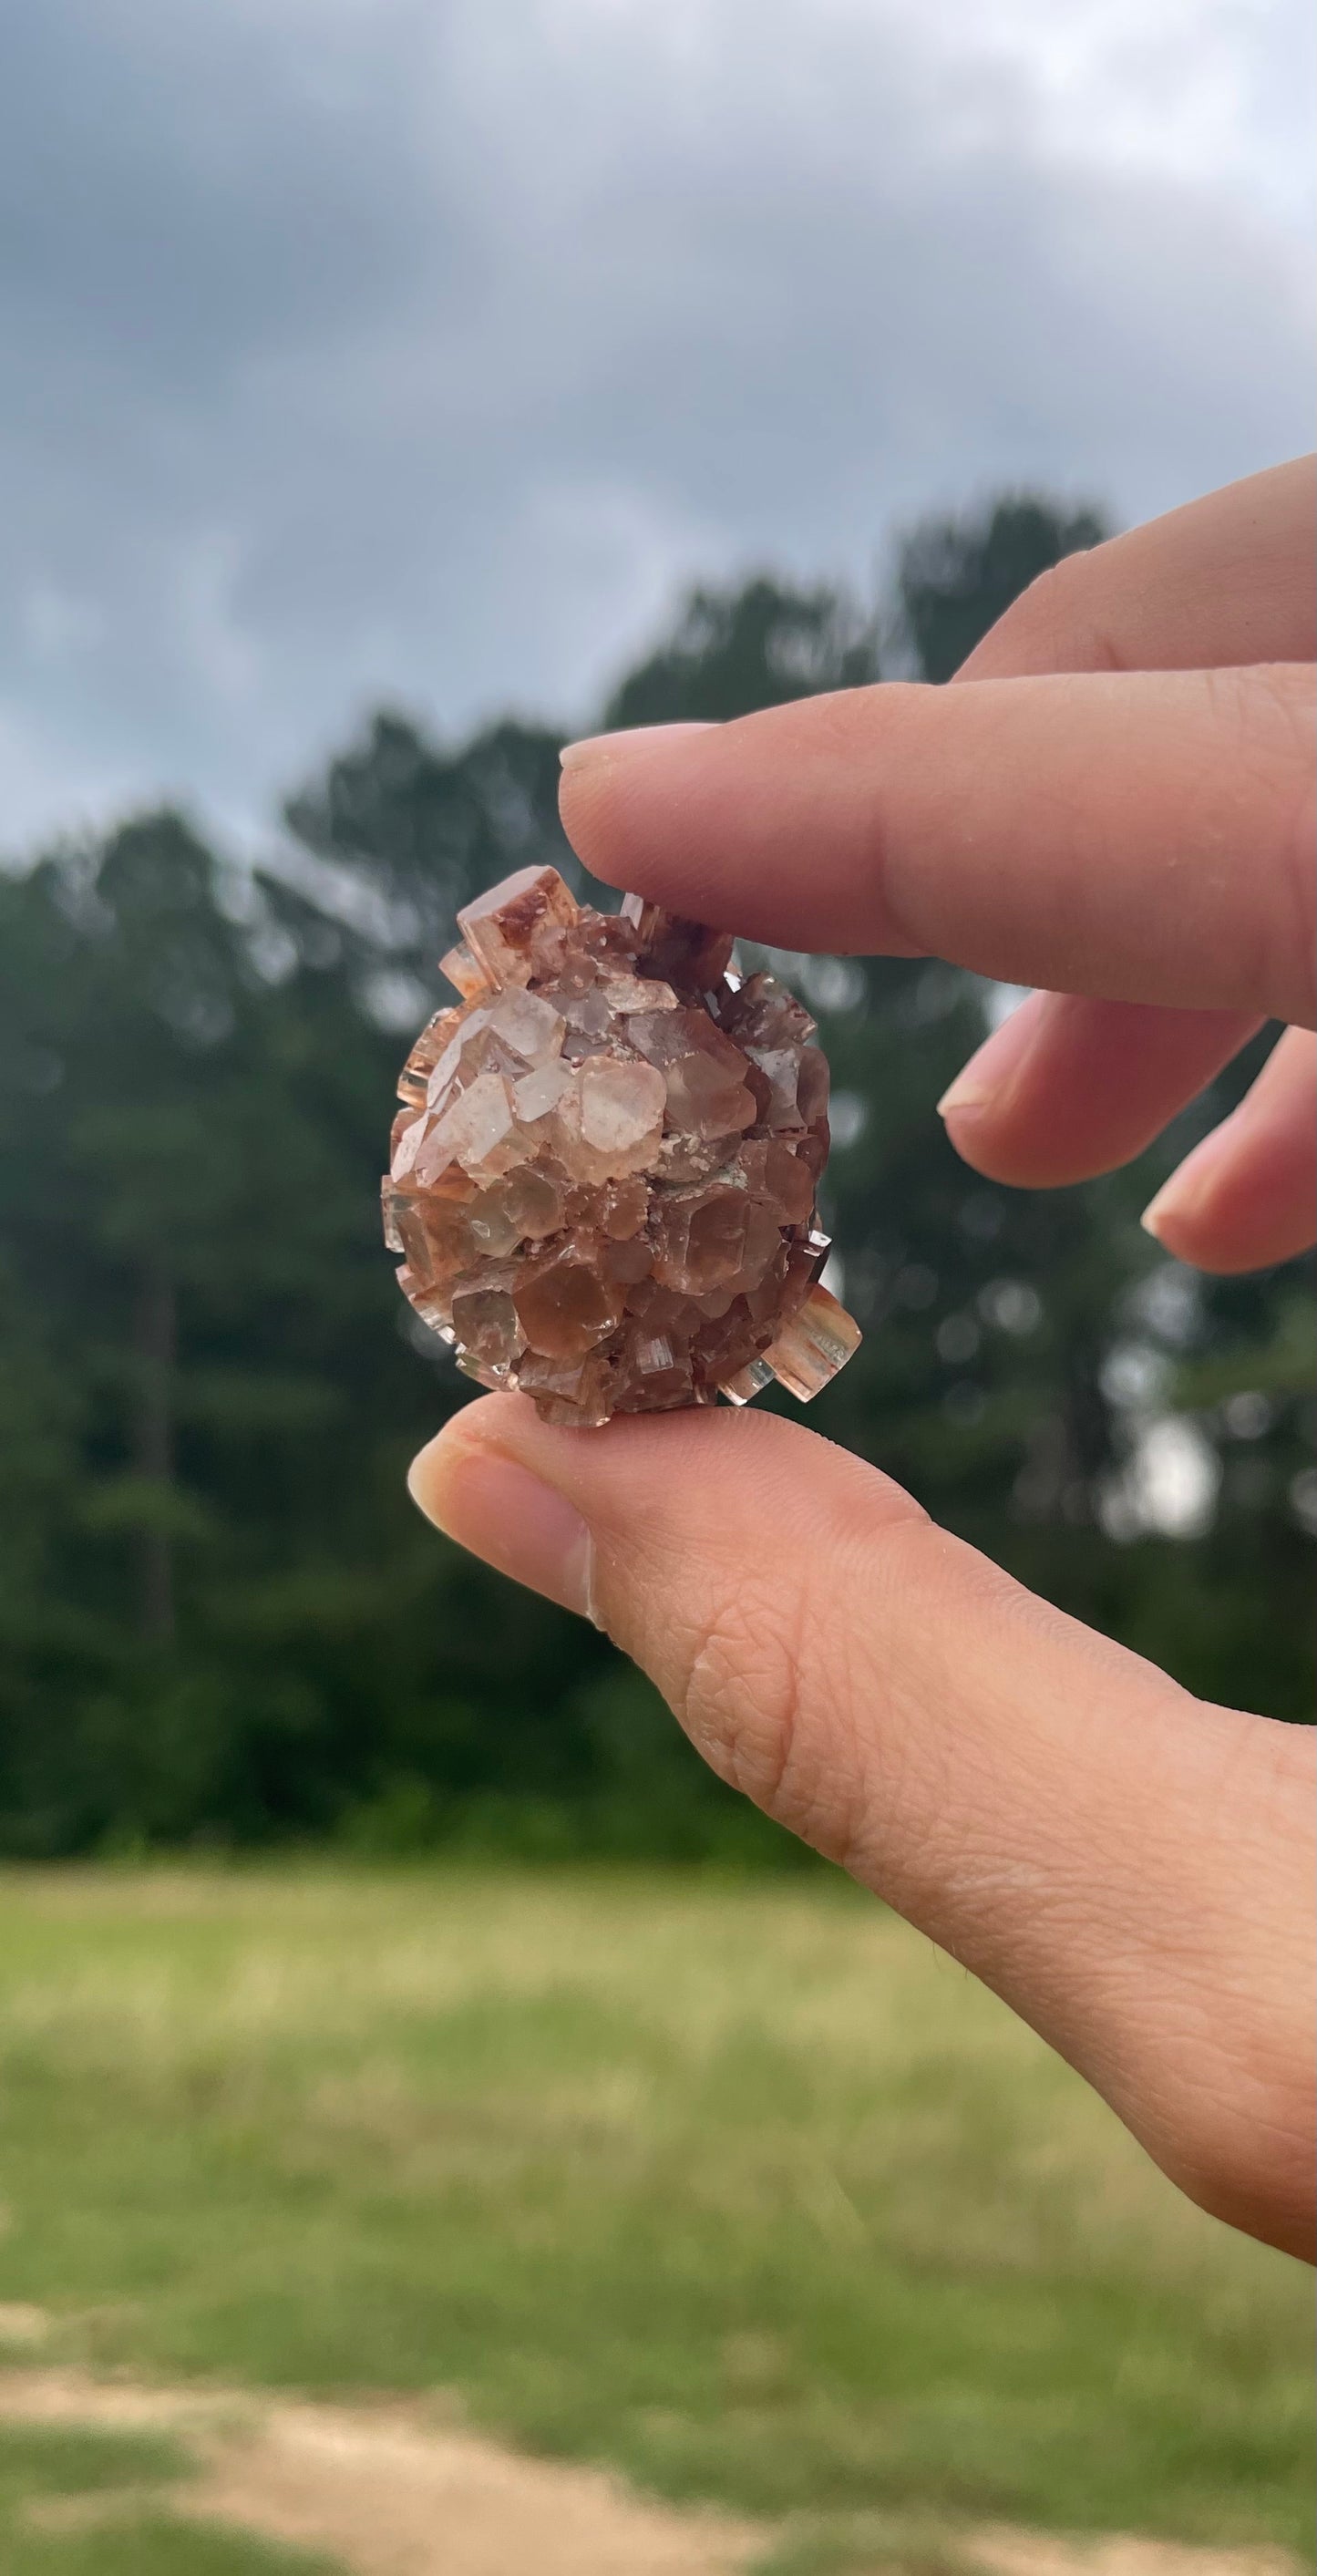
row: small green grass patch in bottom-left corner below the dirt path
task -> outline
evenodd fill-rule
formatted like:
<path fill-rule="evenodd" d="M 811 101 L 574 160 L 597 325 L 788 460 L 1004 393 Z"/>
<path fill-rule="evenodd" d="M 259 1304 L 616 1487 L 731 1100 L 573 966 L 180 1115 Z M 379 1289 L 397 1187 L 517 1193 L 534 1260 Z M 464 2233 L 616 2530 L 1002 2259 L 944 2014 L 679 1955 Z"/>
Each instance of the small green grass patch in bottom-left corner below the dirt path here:
<path fill-rule="evenodd" d="M 0 2424 L 5 2576 L 335 2576 L 325 2558 L 170 2514 L 191 2468 L 157 2434 Z"/>

